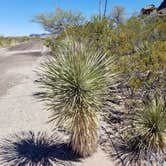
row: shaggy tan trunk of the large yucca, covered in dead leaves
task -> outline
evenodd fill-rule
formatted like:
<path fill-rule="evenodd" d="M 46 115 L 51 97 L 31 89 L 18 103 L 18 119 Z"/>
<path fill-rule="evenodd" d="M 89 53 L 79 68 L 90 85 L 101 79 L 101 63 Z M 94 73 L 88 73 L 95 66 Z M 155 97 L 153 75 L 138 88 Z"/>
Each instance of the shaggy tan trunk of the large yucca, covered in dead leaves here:
<path fill-rule="evenodd" d="M 97 116 L 78 111 L 73 122 L 70 146 L 81 157 L 88 157 L 97 149 Z"/>

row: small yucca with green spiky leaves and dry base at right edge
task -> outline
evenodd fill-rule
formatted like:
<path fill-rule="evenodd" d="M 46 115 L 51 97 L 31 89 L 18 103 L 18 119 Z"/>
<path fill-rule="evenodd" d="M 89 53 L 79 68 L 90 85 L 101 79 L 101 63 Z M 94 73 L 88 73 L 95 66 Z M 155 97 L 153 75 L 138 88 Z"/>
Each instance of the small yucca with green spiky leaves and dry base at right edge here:
<path fill-rule="evenodd" d="M 166 147 L 166 106 L 156 99 L 138 114 L 138 132 L 148 151 L 159 152 Z"/>

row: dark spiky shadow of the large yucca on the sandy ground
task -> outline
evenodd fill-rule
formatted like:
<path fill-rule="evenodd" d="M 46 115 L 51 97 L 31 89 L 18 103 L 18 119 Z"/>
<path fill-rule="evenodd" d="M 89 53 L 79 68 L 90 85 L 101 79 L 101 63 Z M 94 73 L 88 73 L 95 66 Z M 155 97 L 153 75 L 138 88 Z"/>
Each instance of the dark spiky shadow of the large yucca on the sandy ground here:
<path fill-rule="evenodd" d="M 0 164 L 14 166 L 70 166 L 79 161 L 57 136 L 30 131 L 11 135 L 0 142 Z"/>

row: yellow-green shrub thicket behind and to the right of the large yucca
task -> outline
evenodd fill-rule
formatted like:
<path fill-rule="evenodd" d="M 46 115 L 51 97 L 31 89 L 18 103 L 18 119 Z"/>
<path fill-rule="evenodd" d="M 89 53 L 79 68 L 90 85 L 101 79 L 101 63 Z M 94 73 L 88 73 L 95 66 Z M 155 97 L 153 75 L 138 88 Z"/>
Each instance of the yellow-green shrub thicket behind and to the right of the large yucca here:
<path fill-rule="evenodd" d="M 109 18 L 99 20 L 94 17 L 85 25 L 67 28 L 48 45 L 51 50 L 56 50 L 57 42 L 66 35 L 74 36 L 78 41 L 86 38 L 108 56 L 116 57 L 117 70 L 123 73 L 132 95 L 156 88 L 163 91 L 166 66 L 164 27 L 165 18 L 159 17 L 153 20 L 131 17 L 125 24 L 118 25 Z"/>

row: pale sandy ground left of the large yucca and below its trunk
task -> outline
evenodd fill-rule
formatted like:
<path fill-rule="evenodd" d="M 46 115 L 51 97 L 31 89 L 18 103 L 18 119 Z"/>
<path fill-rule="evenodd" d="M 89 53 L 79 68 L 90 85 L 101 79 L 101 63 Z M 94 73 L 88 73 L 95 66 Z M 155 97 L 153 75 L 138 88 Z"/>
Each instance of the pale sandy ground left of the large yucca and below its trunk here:
<path fill-rule="evenodd" d="M 34 98 L 38 91 L 34 80 L 43 50 L 41 43 L 28 43 L 10 50 L 0 50 L 0 138 L 20 131 L 52 132 L 47 123 L 49 112 Z M 79 166 L 113 166 L 99 148 L 98 152 Z"/>

